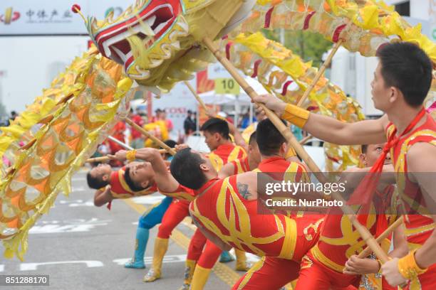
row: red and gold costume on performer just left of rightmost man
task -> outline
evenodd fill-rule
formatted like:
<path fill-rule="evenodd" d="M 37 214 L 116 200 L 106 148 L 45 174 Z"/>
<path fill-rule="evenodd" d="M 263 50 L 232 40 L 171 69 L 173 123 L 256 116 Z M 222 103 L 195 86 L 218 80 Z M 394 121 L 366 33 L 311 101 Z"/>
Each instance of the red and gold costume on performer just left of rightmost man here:
<path fill-rule="evenodd" d="M 377 191 L 376 193 L 375 201 L 371 205 L 372 212 L 375 211 L 375 205 L 384 205 L 383 212 L 392 213 L 384 200 L 395 200 L 395 187 L 387 186 L 382 193 Z M 378 233 L 378 225 L 380 225 L 378 219 L 385 219 L 390 225 L 395 222 L 396 215 L 368 215 L 365 227 L 372 235 Z M 318 243 L 301 262 L 301 272 L 296 289 L 328 290 L 332 287 L 358 287 L 361 276 L 343 274 L 342 271 L 348 258 L 353 254 L 358 254 L 363 248 L 365 248 L 365 241 L 362 240 L 348 217 L 338 213 L 328 213 Z"/>

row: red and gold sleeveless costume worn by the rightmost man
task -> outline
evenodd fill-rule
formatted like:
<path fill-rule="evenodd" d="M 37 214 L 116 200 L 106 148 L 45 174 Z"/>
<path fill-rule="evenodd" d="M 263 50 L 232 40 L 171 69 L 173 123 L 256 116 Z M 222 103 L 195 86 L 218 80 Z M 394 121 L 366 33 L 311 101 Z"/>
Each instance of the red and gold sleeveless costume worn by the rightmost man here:
<path fill-rule="evenodd" d="M 410 146 L 418 142 L 436 146 L 436 122 L 430 114 L 425 114 L 425 118 L 424 124 L 400 138 L 398 144 L 390 151 L 397 173 L 398 191 L 403 200 L 404 210 L 408 213 L 404 216 L 404 222 L 405 235 L 410 250 L 420 248 L 435 229 L 435 223 L 430 216 L 419 186 L 410 181 L 406 174 L 408 172 L 407 152 Z M 387 136 L 393 134 L 394 130 L 395 126 L 389 124 L 386 128 Z M 432 264 L 427 272 L 410 281 L 406 289 L 436 289 L 436 264 Z"/>

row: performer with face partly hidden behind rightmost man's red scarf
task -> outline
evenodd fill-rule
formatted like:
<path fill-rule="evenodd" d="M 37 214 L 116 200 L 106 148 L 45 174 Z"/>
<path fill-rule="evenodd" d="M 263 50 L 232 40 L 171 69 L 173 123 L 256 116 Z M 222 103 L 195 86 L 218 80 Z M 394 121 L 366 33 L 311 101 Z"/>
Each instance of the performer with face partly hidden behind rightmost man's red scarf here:
<path fill-rule="evenodd" d="M 363 146 L 363 154 L 360 156 L 362 163 L 367 166 L 373 166 L 383 152 L 385 144 L 370 144 Z M 390 155 L 385 156 L 385 166 L 392 167 Z M 389 165 L 390 164 L 390 165 Z M 392 171 L 393 169 L 390 169 Z M 358 176 L 359 172 L 368 172 L 368 168 L 352 168 L 350 173 L 344 176 L 347 188 L 354 188 L 353 181 L 348 181 Z M 393 178 L 392 178 L 393 179 Z M 378 215 L 368 215 L 365 227 L 370 230 L 372 235 L 380 234 L 388 225 L 395 222 L 395 214 L 398 195 L 395 193 L 395 180 L 389 180 L 388 176 L 378 183 L 375 189 L 375 195 L 372 202 L 373 213 Z M 393 201 L 391 201 L 393 200 Z M 356 210 L 358 211 L 358 210 Z M 386 223 L 387 226 L 383 224 Z M 408 253 L 407 243 L 401 235 L 400 227 L 395 230 L 395 250 L 390 252 L 390 257 L 402 257 Z M 402 243 L 403 242 L 403 243 Z M 365 242 L 360 238 L 357 231 L 351 225 L 346 215 L 334 213 L 330 210 L 326 215 L 321 237 L 318 243 L 313 247 L 301 263 L 301 271 L 296 289 L 331 289 L 331 287 L 358 287 L 360 284 L 361 273 L 355 269 L 358 264 L 369 262 L 375 267 L 375 273 L 380 269 L 377 261 L 370 259 L 358 259 L 358 254 L 363 249 Z M 349 259 L 349 260 L 348 260 Z M 375 266 L 373 265 L 375 264 Z M 347 267 L 346 267 L 347 266 Z M 374 285 L 372 286 L 375 289 Z M 377 289 L 382 289 L 382 285 Z M 383 289 L 392 289 L 389 285 L 384 285 Z"/>

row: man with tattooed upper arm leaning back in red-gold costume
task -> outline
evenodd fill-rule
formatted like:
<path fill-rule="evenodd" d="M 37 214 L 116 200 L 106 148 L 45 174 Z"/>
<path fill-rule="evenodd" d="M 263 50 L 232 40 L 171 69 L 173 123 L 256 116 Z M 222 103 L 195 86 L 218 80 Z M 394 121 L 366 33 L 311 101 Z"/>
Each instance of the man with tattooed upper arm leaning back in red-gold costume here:
<path fill-rule="evenodd" d="M 259 123 L 256 139 L 261 136 Z M 267 131 L 270 131 L 269 128 Z M 279 135 L 279 131 L 276 131 Z M 264 133 L 268 134 L 268 133 Z M 271 140 L 266 141 L 270 144 Z M 278 146 L 282 150 L 284 146 Z M 259 150 L 262 154 L 261 144 Z M 280 151 L 284 159 L 286 151 Z M 293 167 L 291 163 L 287 167 Z M 257 182 L 254 172 L 219 179 L 212 162 L 206 156 L 191 149 L 179 151 L 170 166 L 172 175 L 180 184 L 196 190 L 197 198 L 190 205 L 192 218 L 208 239 L 222 248 L 229 246 L 257 254 L 293 260 L 294 274 L 298 276 L 299 263 L 304 254 L 317 240 L 321 221 L 308 225 L 286 215 L 262 215 L 258 213 Z M 301 166 L 301 170 L 304 168 Z M 186 174 L 190 172 L 190 174 Z M 301 219 L 303 221 L 303 219 Z M 307 227 L 306 236 L 304 228 Z M 223 242 L 224 241 L 224 242 Z M 289 266 L 286 264 L 286 266 Z M 281 269 L 289 276 L 291 268 Z M 295 279 L 292 277 L 292 279 Z M 290 279 L 289 281 L 291 281 Z M 258 289 L 271 289 L 275 279 L 257 281 Z M 288 279 L 284 282 L 286 284 Z M 192 285 L 197 283 L 195 275 Z M 272 288 L 274 288 L 274 286 Z M 201 289 L 201 288 L 199 288 Z"/>

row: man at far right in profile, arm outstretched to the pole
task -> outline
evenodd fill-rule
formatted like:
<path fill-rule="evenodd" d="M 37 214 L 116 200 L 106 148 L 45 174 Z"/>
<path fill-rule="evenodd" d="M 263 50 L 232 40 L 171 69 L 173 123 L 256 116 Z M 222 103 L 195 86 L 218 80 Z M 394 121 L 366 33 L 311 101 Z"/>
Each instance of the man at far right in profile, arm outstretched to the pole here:
<path fill-rule="evenodd" d="M 371 85 L 375 108 L 385 112 L 380 119 L 345 124 L 272 96 L 259 96 L 255 101 L 333 144 L 388 141 L 371 171 L 380 172 L 385 154 L 390 151 L 398 190 L 408 210 L 404 220 L 410 252 L 383 264 L 382 274 L 393 286 L 408 281 L 408 289 L 435 289 L 435 217 L 430 214 L 435 212 L 436 184 L 430 176 L 436 172 L 436 122 L 422 106 L 432 82 L 432 62 L 411 43 L 385 45 L 378 57 Z M 363 186 L 372 184 L 365 182 Z"/>

